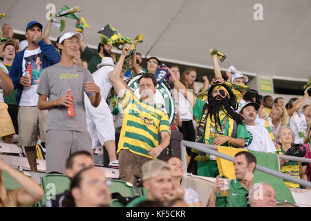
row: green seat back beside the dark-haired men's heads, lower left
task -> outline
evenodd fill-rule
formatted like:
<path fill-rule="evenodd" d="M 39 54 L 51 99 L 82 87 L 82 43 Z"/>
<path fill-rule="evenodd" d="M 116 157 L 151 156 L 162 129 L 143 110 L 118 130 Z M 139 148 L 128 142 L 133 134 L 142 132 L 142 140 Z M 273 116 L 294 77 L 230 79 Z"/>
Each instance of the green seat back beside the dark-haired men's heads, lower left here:
<path fill-rule="evenodd" d="M 44 197 L 38 203 L 38 206 L 43 207 L 48 199 L 70 189 L 70 180 L 63 174 L 46 174 L 40 178 L 40 185 L 44 189 Z"/>

